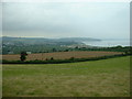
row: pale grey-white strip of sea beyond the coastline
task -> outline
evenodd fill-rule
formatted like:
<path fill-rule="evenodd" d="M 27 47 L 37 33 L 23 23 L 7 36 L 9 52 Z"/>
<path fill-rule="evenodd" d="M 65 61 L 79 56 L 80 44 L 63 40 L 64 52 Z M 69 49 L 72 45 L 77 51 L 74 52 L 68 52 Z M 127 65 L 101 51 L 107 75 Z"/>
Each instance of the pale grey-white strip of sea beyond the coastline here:
<path fill-rule="evenodd" d="M 94 41 L 94 42 L 84 42 L 86 45 L 91 46 L 102 46 L 102 47 L 111 47 L 111 46 L 130 46 L 130 40 L 129 38 L 107 38 L 101 41 Z M 132 43 L 132 41 L 131 41 Z M 132 45 L 131 45 L 132 46 Z"/>

